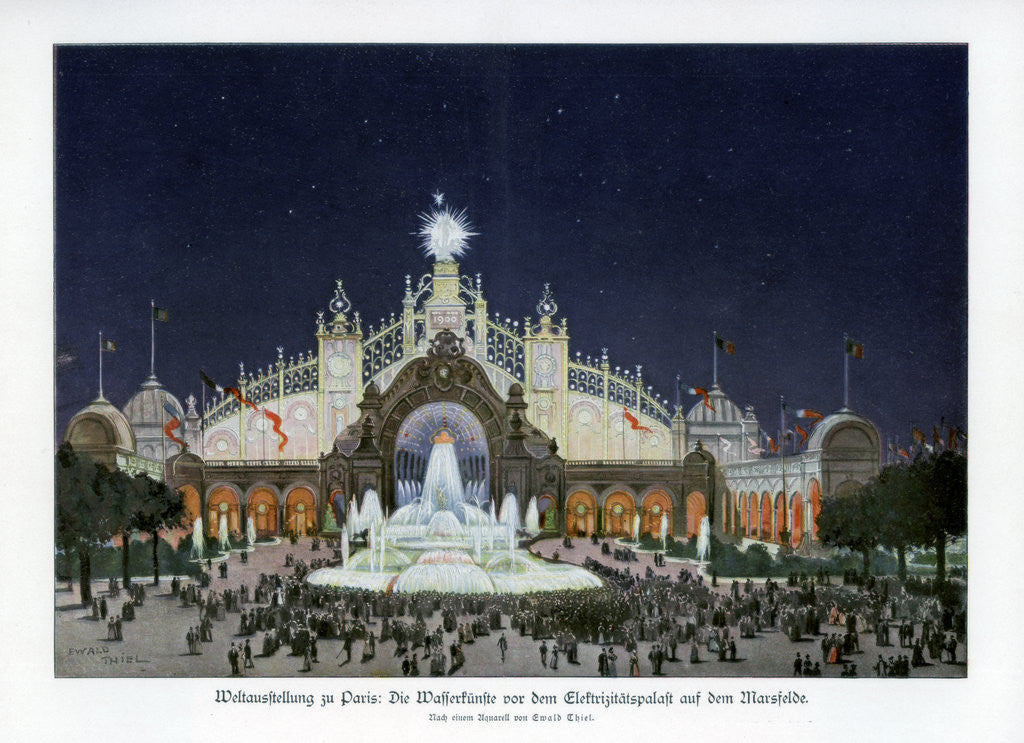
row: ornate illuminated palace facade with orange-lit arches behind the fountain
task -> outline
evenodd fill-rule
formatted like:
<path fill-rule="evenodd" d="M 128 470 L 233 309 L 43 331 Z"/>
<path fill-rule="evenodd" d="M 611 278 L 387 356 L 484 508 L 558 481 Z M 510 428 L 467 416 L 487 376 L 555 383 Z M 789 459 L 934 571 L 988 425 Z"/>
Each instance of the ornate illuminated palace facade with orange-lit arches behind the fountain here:
<path fill-rule="evenodd" d="M 498 502 L 512 492 L 523 516 L 536 497 L 542 527 L 571 535 L 626 535 L 639 513 L 644 532 L 668 514 L 671 533 L 688 536 L 708 516 L 720 538 L 807 550 L 822 499 L 879 472 L 878 431 L 851 410 L 826 416 L 800 452 L 762 458 L 750 453 L 761 441 L 753 408 L 717 385 L 710 404 L 670 409 L 641 366 L 612 367 L 606 349 L 570 353 L 547 286 L 537 313 L 492 314 L 480 275 L 444 259 L 407 276 L 400 309 L 366 326 L 338 280 L 315 350 L 240 364 L 242 400 L 221 393 L 200 410 L 189 395 L 182 406 L 151 376 L 123 409 L 100 397 L 79 411 L 65 439 L 163 477 L 210 535 L 221 514 L 231 531 L 252 520 L 261 536 L 332 532 L 368 488 L 393 511 L 415 496 L 442 427 L 467 492 Z M 163 434 L 168 405 L 184 450 Z"/>

